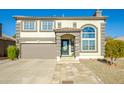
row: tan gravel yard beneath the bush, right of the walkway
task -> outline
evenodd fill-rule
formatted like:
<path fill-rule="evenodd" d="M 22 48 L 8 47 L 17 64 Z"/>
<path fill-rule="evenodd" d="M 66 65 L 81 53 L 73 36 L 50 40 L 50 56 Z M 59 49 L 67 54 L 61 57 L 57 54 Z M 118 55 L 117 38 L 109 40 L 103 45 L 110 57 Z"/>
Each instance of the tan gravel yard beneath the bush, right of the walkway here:
<path fill-rule="evenodd" d="M 120 59 L 117 66 L 93 60 L 80 62 L 94 72 L 105 84 L 124 84 L 124 59 Z"/>

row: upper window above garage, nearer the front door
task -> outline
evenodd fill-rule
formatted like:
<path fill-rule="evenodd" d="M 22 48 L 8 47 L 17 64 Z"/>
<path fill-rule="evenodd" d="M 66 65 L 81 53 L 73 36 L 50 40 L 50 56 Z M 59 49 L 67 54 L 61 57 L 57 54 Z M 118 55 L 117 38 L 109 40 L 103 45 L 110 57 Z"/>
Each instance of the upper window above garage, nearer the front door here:
<path fill-rule="evenodd" d="M 54 22 L 53 21 L 41 21 L 42 22 L 42 26 L 41 29 L 44 31 L 52 31 L 53 30 L 53 26 L 54 26 Z"/>

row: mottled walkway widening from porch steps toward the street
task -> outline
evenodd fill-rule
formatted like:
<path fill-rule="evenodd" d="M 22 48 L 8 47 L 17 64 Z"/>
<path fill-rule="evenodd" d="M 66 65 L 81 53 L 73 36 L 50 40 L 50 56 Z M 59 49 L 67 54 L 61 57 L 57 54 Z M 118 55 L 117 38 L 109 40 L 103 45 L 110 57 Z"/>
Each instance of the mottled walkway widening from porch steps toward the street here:
<path fill-rule="evenodd" d="M 73 63 L 74 62 L 74 63 Z M 86 66 L 71 60 L 64 60 L 56 65 L 53 84 L 100 84 L 103 83 Z"/>

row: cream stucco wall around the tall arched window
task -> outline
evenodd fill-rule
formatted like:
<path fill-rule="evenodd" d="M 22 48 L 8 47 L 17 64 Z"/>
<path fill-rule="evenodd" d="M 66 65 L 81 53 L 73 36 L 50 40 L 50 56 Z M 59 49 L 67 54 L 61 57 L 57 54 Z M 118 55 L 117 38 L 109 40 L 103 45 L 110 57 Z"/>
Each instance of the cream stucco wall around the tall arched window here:
<path fill-rule="evenodd" d="M 61 22 L 62 28 L 64 27 L 73 27 L 73 22 L 77 23 L 77 28 L 81 28 L 86 24 L 92 24 L 97 27 L 98 31 L 98 52 L 96 53 L 80 53 L 79 58 L 103 58 L 101 56 L 101 23 L 104 23 L 104 20 L 57 20 L 56 24 Z M 56 25 L 57 28 L 57 25 Z"/>

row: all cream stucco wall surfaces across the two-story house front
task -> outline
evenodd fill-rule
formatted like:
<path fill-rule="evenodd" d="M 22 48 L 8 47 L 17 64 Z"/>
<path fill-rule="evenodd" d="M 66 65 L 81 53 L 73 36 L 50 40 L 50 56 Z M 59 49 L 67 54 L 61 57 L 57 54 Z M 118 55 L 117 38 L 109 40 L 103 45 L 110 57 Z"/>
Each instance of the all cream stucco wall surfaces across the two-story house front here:
<path fill-rule="evenodd" d="M 18 22 L 21 22 L 21 20 L 18 20 Z M 73 22 L 77 23 L 77 28 L 81 28 L 82 26 L 86 25 L 86 24 L 92 24 L 94 26 L 97 27 L 97 31 L 98 31 L 98 52 L 96 53 L 80 53 L 79 54 L 79 58 L 80 57 L 84 57 L 84 58 L 89 58 L 89 57 L 93 57 L 93 58 L 99 58 L 99 57 L 103 57 L 101 56 L 101 23 L 104 23 L 104 20 L 55 20 L 55 28 L 58 27 L 57 23 L 61 22 L 61 28 L 65 28 L 65 27 L 73 27 Z M 37 31 L 36 32 L 20 32 L 20 38 L 23 37 L 41 37 L 41 38 L 46 38 L 46 37 L 55 37 L 55 32 L 41 32 L 40 31 L 40 20 L 37 20 Z M 20 30 L 21 31 L 21 30 Z M 34 41 L 33 41 L 34 42 Z M 35 43 L 35 42 L 34 42 Z"/>

